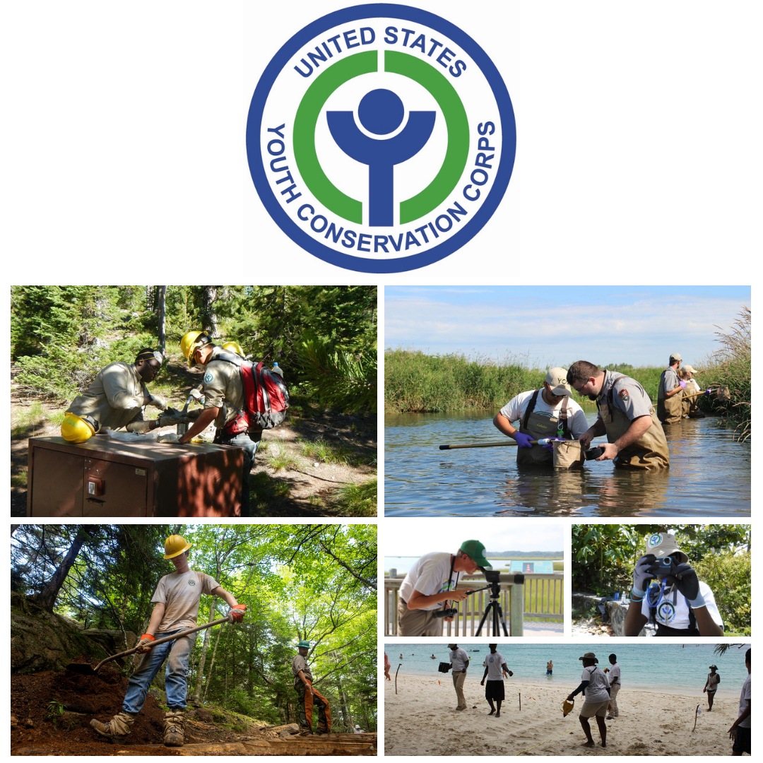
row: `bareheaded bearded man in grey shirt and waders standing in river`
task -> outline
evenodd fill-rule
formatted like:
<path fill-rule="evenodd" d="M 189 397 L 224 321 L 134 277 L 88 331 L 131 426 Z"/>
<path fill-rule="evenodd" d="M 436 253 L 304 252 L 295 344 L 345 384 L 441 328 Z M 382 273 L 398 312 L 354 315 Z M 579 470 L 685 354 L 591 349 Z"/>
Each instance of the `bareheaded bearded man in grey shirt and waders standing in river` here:
<path fill-rule="evenodd" d="M 604 452 L 597 461 L 613 459 L 615 466 L 656 470 L 668 468 L 668 441 L 652 401 L 636 379 L 587 360 L 573 363 L 567 381 L 578 394 L 595 400 L 599 416 L 581 437 L 588 449 L 594 437 L 607 435 Z"/>

